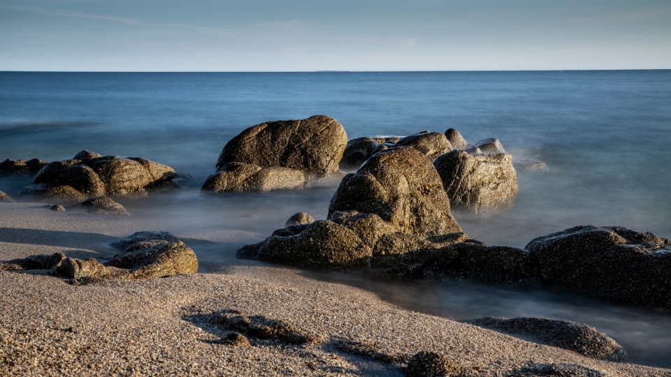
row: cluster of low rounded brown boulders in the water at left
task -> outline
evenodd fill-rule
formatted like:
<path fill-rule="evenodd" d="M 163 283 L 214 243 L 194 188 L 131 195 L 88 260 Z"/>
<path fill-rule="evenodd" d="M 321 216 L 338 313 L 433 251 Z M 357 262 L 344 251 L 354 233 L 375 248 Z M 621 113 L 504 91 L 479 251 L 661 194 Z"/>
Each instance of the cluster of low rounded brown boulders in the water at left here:
<path fill-rule="evenodd" d="M 98 196 L 144 196 L 148 191 L 178 187 L 175 170 L 140 157 L 100 156 L 82 151 L 85 159 L 45 165 L 33 184 L 19 191 L 21 198 L 81 202 Z"/>

